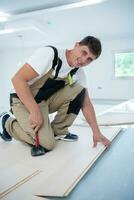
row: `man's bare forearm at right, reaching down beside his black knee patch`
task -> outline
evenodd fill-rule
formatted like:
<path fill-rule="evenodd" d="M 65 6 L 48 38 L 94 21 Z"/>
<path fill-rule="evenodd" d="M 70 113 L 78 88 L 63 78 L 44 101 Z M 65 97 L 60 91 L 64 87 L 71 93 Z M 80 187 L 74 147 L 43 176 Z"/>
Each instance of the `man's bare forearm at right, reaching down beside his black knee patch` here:
<path fill-rule="evenodd" d="M 93 105 L 89 99 L 88 93 L 86 93 L 86 95 L 85 95 L 82 112 L 83 112 L 83 115 L 84 115 L 86 121 L 92 128 L 93 134 L 100 133 L 99 127 L 97 124 L 97 120 L 96 120 L 96 116 L 95 116 L 95 111 L 94 111 Z"/>

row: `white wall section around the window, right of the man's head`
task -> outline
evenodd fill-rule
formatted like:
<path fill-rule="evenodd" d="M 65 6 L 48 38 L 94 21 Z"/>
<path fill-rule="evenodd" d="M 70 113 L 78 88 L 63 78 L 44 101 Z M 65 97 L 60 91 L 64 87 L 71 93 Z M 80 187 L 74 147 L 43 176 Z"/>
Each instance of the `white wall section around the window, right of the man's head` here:
<path fill-rule="evenodd" d="M 93 99 L 127 100 L 134 98 L 134 79 L 114 78 L 114 52 L 134 50 L 134 37 L 102 41 L 101 57 L 87 67 Z"/>

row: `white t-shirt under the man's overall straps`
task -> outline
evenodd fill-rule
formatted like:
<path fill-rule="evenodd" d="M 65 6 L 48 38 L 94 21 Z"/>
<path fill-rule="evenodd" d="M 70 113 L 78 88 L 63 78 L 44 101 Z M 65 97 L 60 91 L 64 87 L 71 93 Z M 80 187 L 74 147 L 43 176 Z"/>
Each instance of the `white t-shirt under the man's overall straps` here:
<path fill-rule="evenodd" d="M 58 57 L 62 60 L 62 66 L 59 71 L 58 77 L 65 78 L 73 68 L 70 67 L 67 63 L 65 54 L 66 50 L 65 49 L 57 49 L 57 50 L 58 50 Z M 28 81 L 29 85 L 33 84 L 36 80 L 40 79 L 52 68 L 53 59 L 54 59 L 54 50 L 51 47 L 40 47 L 26 60 L 26 63 L 28 63 L 39 74 L 39 76 L 37 76 L 36 78 Z M 55 75 L 55 71 L 53 71 L 52 75 Z M 83 87 L 87 87 L 86 75 L 82 68 L 78 69 L 76 74 L 73 75 L 73 79 Z M 15 90 L 12 92 L 15 92 Z"/>

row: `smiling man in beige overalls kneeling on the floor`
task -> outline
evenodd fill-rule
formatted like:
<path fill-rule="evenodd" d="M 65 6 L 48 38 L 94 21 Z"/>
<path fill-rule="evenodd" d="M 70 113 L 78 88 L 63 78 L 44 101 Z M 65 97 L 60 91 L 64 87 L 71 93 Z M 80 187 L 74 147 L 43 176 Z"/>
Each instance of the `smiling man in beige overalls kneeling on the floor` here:
<path fill-rule="evenodd" d="M 82 69 L 100 54 L 101 43 L 93 36 L 85 37 L 70 50 L 39 48 L 12 78 L 15 91 L 10 103 L 15 118 L 8 113 L 2 115 L 1 137 L 34 145 L 38 131 L 41 147 L 52 150 L 56 139 L 78 139 L 68 127 L 81 109 L 93 131 L 93 146 L 101 142 L 108 147 L 110 141 L 98 128 Z M 54 112 L 57 114 L 50 123 L 48 114 Z"/>

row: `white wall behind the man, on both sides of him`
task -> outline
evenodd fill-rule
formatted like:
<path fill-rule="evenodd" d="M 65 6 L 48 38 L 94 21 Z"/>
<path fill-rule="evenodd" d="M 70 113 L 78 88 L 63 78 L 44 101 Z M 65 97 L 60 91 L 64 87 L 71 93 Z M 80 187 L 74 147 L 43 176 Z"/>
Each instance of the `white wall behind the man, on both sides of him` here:
<path fill-rule="evenodd" d="M 116 80 L 113 77 L 113 52 L 134 49 L 134 38 L 103 40 L 101 57 L 86 67 L 89 92 L 92 99 L 127 100 L 134 98 L 134 79 Z M 60 46 L 60 45 L 59 45 Z M 68 45 L 71 46 L 71 45 Z M 0 50 L 0 107 L 9 109 L 11 77 L 34 48 L 14 48 Z"/>

